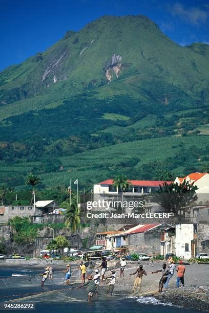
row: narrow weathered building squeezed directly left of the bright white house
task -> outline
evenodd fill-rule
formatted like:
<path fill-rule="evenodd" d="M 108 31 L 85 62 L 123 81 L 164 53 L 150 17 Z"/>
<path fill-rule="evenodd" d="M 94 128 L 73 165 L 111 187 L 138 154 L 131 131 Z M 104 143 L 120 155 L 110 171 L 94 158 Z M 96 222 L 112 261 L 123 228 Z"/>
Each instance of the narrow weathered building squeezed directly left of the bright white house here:
<path fill-rule="evenodd" d="M 162 229 L 160 241 L 160 254 L 164 255 L 164 257 L 167 253 L 176 254 L 175 237 L 176 237 L 175 226 Z"/>

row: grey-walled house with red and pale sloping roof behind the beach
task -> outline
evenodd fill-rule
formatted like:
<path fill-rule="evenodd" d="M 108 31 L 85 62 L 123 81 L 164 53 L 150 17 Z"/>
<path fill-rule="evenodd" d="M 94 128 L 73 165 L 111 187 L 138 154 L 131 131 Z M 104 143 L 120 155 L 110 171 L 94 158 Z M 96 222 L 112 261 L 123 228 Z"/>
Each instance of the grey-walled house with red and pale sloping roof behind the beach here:
<path fill-rule="evenodd" d="M 114 248 L 128 247 L 130 251 L 150 254 L 160 254 L 161 232 L 163 229 L 172 227 L 167 223 L 153 223 L 137 225 L 114 237 Z"/>

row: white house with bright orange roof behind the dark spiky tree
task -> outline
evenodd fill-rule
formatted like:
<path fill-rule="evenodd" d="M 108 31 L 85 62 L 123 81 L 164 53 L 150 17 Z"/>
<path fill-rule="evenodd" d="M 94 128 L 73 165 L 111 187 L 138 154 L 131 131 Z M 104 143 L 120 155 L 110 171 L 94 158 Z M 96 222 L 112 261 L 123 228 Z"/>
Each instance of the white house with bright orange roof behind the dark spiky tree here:
<path fill-rule="evenodd" d="M 174 183 L 183 183 L 183 181 L 194 183 L 198 189 L 196 193 L 209 193 L 209 173 L 190 173 L 185 177 L 176 177 Z"/>

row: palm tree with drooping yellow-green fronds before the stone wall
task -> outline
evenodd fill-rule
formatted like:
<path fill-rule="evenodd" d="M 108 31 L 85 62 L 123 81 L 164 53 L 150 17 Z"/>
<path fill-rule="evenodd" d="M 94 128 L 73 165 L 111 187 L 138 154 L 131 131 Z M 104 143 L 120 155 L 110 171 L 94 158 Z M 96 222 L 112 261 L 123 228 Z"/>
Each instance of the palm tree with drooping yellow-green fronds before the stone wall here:
<path fill-rule="evenodd" d="M 79 249 L 79 239 L 77 231 L 80 228 L 80 209 L 77 207 L 75 200 L 73 200 L 73 202 L 71 202 L 71 205 L 67 207 L 65 225 L 71 230 L 73 234 L 76 233 Z"/>

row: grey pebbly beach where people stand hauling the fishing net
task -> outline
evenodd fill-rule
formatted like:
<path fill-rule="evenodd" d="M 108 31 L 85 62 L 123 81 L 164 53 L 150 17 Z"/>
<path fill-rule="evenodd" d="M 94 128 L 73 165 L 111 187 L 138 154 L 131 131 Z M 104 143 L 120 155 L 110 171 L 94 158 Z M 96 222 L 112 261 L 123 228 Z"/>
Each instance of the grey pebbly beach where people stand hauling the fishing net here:
<path fill-rule="evenodd" d="M 42 262 L 41 262 L 42 263 Z M 70 262 L 72 267 L 78 266 L 79 261 Z M 142 298 L 153 298 L 160 303 L 164 303 L 164 305 L 172 304 L 176 307 L 197 310 L 197 311 L 209 311 L 209 283 L 208 283 L 208 275 L 209 275 L 209 266 L 205 266 L 203 264 L 194 264 L 194 265 L 186 265 L 185 271 L 185 286 L 175 288 L 176 278 L 173 277 L 169 283 L 169 289 L 163 290 L 162 293 L 158 293 L 158 282 L 161 277 L 160 273 L 151 274 L 152 271 L 159 269 L 162 266 L 161 261 L 154 262 L 141 262 L 144 270 L 147 272 L 147 276 L 143 276 L 141 289 L 137 290 L 136 293 L 132 294 L 132 286 L 135 280 L 136 275 L 130 276 L 133 274 L 138 266 L 137 261 L 129 261 L 127 262 L 127 267 L 124 271 L 124 277 L 119 277 L 120 269 L 116 265 L 115 261 L 109 261 L 108 266 L 109 270 L 106 272 L 105 276 L 110 276 L 110 271 L 114 269 L 116 271 L 116 283 L 114 288 L 115 294 L 121 294 L 123 297 L 136 297 L 138 298 L 138 302 L 143 302 Z M 8 264 L 6 262 L 0 263 L 0 269 L 14 269 L 15 270 L 41 270 L 43 266 L 49 265 L 50 262 L 45 262 L 44 264 Z M 96 263 L 98 266 L 100 262 Z M 1 266 L 2 265 L 2 266 Z M 56 272 L 63 270 L 64 266 L 66 266 L 66 262 L 55 261 L 53 264 L 54 267 L 54 276 L 56 277 Z M 95 268 L 93 269 L 94 275 Z M 79 280 L 72 281 L 72 284 L 80 283 Z M 106 292 L 108 285 L 108 280 L 100 281 L 99 287 L 101 290 Z M 141 301 L 140 301 L 141 298 Z M 151 299 L 152 300 L 152 299 Z M 154 301 L 153 301 L 153 304 Z"/>

